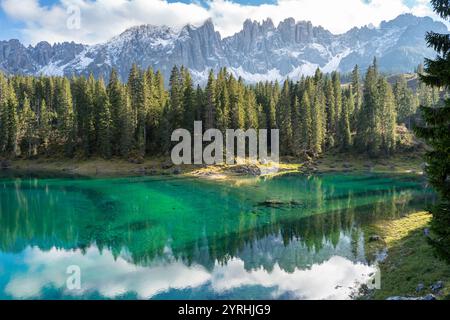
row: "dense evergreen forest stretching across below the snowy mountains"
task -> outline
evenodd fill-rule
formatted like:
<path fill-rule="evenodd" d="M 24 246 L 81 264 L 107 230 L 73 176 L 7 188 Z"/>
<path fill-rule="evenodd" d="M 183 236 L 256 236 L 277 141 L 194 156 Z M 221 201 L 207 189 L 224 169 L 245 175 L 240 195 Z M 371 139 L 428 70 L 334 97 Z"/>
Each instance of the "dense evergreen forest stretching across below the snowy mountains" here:
<path fill-rule="evenodd" d="M 349 84 L 316 71 L 293 82 L 247 85 L 222 69 L 206 87 L 174 67 L 170 86 L 159 71 L 133 66 L 126 84 L 113 71 L 104 83 L 85 77 L 0 74 L 0 154 L 33 158 L 101 156 L 141 159 L 170 152 L 171 133 L 192 129 L 280 129 L 282 155 L 339 152 L 388 156 L 404 144 L 399 125 L 420 121 L 418 105 L 440 100 L 438 89 L 411 89 L 404 76 L 391 85 L 377 62 Z M 405 132 L 404 130 L 402 132 Z M 401 131 L 401 130 L 400 130 Z M 408 132 L 408 130 L 406 130 Z"/>

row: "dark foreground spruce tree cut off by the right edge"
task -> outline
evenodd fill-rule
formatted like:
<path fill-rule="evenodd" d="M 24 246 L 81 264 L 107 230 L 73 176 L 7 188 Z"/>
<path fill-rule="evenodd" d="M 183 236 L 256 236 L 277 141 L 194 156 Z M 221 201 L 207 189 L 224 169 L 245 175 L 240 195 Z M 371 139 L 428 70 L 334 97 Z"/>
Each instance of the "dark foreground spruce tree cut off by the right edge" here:
<path fill-rule="evenodd" d="M 447 0 L 432 0 L 434 11 L 449 20 L 450 5 Z M 438 52 L 435 60 L 427 59 L 421 80 L 435 88 L 450 87 L 450 36 L 429 32 L 426 37 L 430 47 Z M 440 199 L 433 208 L 433 230 L 438 236 L 437 244 L 449 255 L 450 248 L 450 99 L 441 106 L 421 106 L 423 126 L 416 133 L 432 148 L 426 154 L 426 172 L 431 185 Z"/>

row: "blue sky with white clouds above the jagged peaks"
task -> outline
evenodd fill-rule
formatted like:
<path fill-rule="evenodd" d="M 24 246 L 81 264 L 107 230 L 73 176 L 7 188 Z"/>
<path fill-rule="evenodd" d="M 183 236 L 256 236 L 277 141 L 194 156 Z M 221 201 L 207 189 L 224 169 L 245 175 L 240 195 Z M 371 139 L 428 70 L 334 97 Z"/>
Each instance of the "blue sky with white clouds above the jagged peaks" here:
<path fill-rule="evenodd" d="M 0 40 L 96 44 L 135 25 L 180 28 L 209 18 L 222 37 L 238 32 L 246 19 L 268 17 L 275 24 L 293 17 L 344 33 L 402 13 L 440 20 L 429 0 L 0 0 Z"/>

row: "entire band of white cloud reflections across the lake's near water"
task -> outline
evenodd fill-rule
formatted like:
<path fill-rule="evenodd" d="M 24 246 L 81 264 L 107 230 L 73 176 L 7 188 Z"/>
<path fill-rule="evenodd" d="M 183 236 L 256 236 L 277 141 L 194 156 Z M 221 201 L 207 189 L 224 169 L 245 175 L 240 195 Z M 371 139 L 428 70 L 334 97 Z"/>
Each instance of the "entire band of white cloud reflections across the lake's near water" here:
<path fill-rule="evenodd" d="M 26 271 L 11 270 L 5 293 L 16 299 L 41 297 L 45 288 L 61 289 L 66 296 L 93 292 L 106 298 L 118 298 L 134 292 L 139 299 L 150 299 L 170 289 L 198 288 L 209 285 L 219 294 L 243 286 L 273 288 L 273 297 L 291 294 L 298 299 L 348 299 L 358 284 L 366 283 L 374 267 L 332 256 L 310 269 L 286 272 L 276 264 L 273 270 L 246 270 L 245 263 L 233 258 L 227 264 L 215 263 L 212 270 L 199 265 L 187 266 L 181 261 L 153 262 L 148 266 L 134 265 L 125 257 L 114 257 L 108 250 L 91 247 L 80 250 L 41 251 L 28 248 L 24 252 Z M 81 270 L 81 290 L 65 288 L 66 269 L 76 265 Z M 8 278 L 8 277 L 7 277 Z"/>

